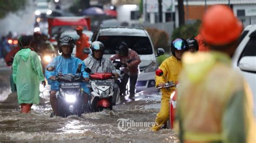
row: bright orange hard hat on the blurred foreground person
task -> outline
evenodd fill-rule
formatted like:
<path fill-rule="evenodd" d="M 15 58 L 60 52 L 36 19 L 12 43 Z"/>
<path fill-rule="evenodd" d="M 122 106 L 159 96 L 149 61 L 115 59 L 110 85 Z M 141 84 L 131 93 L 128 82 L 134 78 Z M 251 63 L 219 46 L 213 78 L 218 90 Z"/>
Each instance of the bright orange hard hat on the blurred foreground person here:
<path fill-rule="evenodd" d="M 233 11 L 225 5 L 209 8 L 203 18 L 200 34 L 211 45 L 225 45 L 237 39 L 242 32 L 242 24 Z"/>

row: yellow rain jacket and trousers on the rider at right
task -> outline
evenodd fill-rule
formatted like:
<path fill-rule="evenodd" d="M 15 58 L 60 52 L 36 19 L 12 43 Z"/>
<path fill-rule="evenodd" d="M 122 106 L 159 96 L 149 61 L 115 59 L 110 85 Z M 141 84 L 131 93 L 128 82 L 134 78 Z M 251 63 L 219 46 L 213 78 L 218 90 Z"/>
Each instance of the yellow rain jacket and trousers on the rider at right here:
<path fill-rule="evenodd" d="M 164 74 L 163 76 L 156 76 L 156 86 L 158 86 L 159 83 L 177 82 L 181 71 L 181 61 L 175 56 L 170 56 L 170 58 L 161 63 L 159 69 L 163 70 Z M 156 124 L 151 127 L 152 131 L 158 131 L 160 127 L 169 120 L 169 101 L 170 95 L 174 90 L 176 90 L 176 88 L 161 89 L 161 108 L 159 113 L 157 113 Z"/>

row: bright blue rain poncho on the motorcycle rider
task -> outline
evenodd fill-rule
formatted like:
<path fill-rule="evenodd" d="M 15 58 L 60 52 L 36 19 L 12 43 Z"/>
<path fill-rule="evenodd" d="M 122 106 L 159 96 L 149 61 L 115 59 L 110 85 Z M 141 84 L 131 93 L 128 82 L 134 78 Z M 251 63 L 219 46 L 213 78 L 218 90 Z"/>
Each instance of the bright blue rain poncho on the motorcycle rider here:
<path fill-rule="evenodd" d="M 73 74 L 76 75 L 77 67 L 79 63 L 82 64 L 82 71 L 84 77 L 89 77 L 89 74 L 84 71 L 86 68 L 84 65 L 84 62 L 78 58 L 75 58 L 71 56 L 70 58 L 64 58 L 63 56 L 57 56 L 54 58 L 47 67 L 53 66 L 55 67 L 55 70 L 48 71 L 45 70 L 45 77 L 48 80 L 48 84 L 51 85 L 51 90 L 57 90 L 59 89 L 59 82 L 49 80 L 51 76 L 57 76 L 58 73 L 61 74 Z M 86 87 L 86 83 L 80 83 L 81 87 L 83 88 L 84 92 L 89 93 L 89 89 Z"/>

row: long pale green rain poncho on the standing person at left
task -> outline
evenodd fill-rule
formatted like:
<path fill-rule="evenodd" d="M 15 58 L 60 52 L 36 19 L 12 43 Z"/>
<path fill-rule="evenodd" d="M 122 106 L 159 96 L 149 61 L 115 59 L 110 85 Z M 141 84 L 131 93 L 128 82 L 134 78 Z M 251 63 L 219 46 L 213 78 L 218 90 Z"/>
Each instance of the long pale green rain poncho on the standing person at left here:
<path fill-rule="evenodd" d="M 39 103 L 39 81 L 44 81 L 43 69 L 36 52 L 25 48 L 16 53 L 12 76 L 17 87 L 18 103 Z"/>

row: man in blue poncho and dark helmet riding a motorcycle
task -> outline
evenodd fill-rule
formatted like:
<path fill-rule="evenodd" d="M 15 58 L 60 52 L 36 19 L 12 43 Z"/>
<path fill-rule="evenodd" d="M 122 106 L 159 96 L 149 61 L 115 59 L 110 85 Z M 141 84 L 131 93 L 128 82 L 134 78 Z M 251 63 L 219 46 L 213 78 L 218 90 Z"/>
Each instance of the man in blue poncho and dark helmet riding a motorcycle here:
<path fill-rule="evenodd" d="M 48 83 L 51 85 L 50 91 L 50 102 L 52 106 L 53 115 L 58 116 L 57 110 L 57 100 L 56 100 L 56 92 L 59 89 L 59 82 L 54 81 L 56 79 L 57 74 L 76 74 L 76 70 L 79 64 L 82 64 L 82 69 L 85 68 L 85 65 L 82 60 L 71 56 L 73 48 L 75 47 L 75 41 L 71 37 L 63 37 L 58 41 L 59 53 L 62 55 L 55 57 L 49 65 L 46 67 L 55 67 L 53 71 L 45 70 L 45 76 L 48 80 Z M 83 77 L 85 81 L 88 81 L 89 74 L 83 71 Z M 81 87 L 84 91 L 84 106 L 87 107 L 88 99 L 89 99 L 89 89 L 86 87 L 86 83 L 81 83 Z"/>

